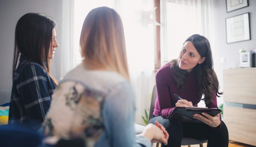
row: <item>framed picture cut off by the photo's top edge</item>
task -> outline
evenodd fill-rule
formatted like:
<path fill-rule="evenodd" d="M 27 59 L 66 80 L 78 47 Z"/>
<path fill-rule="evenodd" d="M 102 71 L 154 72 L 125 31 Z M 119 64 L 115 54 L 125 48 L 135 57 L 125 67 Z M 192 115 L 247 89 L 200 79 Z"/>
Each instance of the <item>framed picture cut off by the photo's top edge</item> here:
<path fill-rule="evenodd" d="M 227 12 L 248 6 L 248 0 L 226 0 Z"/>

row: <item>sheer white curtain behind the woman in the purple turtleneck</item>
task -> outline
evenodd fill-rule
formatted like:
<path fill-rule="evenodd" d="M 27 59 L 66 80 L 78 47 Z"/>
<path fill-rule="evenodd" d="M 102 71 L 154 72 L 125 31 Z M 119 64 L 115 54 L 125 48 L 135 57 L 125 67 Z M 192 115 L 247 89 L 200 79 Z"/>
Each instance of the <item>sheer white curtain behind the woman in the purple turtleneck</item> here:
<path fill-rule="evenodd" d="M 213 0 L 161 0 L 161 63 L 176 59 L 193 34 L 206 37 L 214 58 Z M 205 107 L 204 102 L 198 104 Z"/>

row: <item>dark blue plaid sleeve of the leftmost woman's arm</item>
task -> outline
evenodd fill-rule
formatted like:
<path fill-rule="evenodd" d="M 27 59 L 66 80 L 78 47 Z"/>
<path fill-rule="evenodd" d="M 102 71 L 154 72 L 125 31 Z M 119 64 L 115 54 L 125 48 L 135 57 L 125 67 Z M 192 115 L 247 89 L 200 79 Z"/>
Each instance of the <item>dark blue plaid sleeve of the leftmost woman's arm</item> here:
<path fill-rule="evenodd" d="M 41 126 L 50 107 L 51 96 L 47 78 L 46 71 L 40 65 L 29 64 L 17 79 L 17 91 L 22 97 L 33 129 Z"/>

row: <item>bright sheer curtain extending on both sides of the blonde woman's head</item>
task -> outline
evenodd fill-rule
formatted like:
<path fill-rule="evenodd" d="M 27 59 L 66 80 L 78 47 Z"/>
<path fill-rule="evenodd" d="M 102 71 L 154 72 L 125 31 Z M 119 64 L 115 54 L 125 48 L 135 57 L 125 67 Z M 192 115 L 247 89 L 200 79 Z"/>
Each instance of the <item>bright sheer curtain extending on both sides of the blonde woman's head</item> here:
<path fill-rule="evenodd" d="M 83 21 L 89 11 L 102 6 L 115 9 L 122 19 L 129 74 L 136 94 L 135 121 L 143 124 L 141 116 L 150 107 L 155 84 L 154 25 L 157 23 L 153 0 L 63 0 L 61 76 L 81 62 L 79 39 Z"/>

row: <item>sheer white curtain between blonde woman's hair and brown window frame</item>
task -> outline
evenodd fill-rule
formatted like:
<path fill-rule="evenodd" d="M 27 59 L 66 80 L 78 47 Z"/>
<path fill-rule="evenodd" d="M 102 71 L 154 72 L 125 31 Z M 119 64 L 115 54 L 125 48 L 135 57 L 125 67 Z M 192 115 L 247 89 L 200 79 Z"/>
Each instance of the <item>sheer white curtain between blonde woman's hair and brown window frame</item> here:
<path fill-rule="evenodd" d="M 121 16 L 126 41 L 129 74 L 136 94 L 135 122 L 144 124 L 145 109 L 149 113 L 151 93 L 155 84 L 153 0 L 118 0 L 116 10 Z"/>

